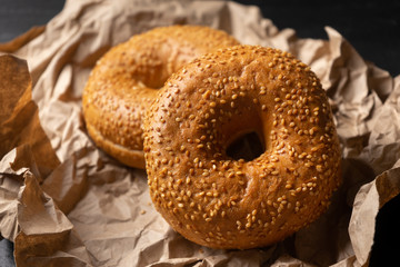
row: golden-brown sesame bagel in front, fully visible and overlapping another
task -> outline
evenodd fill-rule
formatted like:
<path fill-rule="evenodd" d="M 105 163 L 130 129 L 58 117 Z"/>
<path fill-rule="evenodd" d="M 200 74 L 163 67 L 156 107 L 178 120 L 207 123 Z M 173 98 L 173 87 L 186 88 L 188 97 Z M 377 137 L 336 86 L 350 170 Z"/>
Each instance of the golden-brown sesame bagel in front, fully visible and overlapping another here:
<path fill-rule="evenodd" d="M 282 240 L 317 219 L 341 182 L 326 91 L 309 67 L 280 50 L 237 46 L 191 61 L 159 91 L 144 129 L 156 208 L 203 246 Z M 229 156 L 248 132 L 263 152 Z"/>

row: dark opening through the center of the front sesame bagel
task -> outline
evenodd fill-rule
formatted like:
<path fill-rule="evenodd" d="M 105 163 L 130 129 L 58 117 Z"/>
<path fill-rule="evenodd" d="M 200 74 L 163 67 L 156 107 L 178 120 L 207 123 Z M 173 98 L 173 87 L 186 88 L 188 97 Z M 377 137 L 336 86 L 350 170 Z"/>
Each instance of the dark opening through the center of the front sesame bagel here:
<path fill-rule="evenodd" d="M 251 161 L 266 151 L 266 147 L 256 131 L 240 135 L 227 148 L 227 156 L 234 159 Z"/>

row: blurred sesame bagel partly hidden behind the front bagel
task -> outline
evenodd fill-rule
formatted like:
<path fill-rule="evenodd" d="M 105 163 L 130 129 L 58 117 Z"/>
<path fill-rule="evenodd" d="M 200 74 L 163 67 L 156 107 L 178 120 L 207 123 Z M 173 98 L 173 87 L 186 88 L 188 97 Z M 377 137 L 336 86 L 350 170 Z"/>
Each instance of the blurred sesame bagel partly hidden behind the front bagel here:
<path fill-rule="evenodd" d="M 116 46 L 97 62 L 83 90 L 90 137 L 121 162 L 144 168 L 142 116 L 157 89 L 191 59 L 233 44 L 238 41 L 219 30 L 171 26 Z"/>

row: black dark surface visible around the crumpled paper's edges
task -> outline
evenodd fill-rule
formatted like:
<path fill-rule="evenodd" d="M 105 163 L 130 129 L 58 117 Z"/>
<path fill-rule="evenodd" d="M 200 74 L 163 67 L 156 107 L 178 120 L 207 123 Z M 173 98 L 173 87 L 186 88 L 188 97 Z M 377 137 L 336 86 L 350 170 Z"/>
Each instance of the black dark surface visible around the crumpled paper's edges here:
<path fill-rule="evenodd" d="M 260 7 L 279 28 L 292 28 L 300 38 L 327 39 L 326 26 L 339 31 L 368 61 L 400 75 L 400 1 L 237 0 Z M 32 26 L 46 24 L 64 0 L 0 0 L 0 42 Z M 400 140 L 399 140 L 400 141 Z M 400 179 L 400 177 L 399 177 Z M 389 201 L 377 218 L 370 266 L 389 266 L 400 256 L 400 197 Z M 1 239 L 1 237 L 0 237 Z M 0 267 L 14 266 L 12 243 L 0 240 Z"/>

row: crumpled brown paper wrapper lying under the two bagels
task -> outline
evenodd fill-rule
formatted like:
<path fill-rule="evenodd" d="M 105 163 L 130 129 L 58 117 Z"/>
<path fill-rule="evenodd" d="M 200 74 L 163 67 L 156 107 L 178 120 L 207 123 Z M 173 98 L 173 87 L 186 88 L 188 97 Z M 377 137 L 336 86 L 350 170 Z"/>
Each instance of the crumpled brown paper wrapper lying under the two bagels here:
<path fill-rule="evenodd" d="M 320 219 L 271 247 L 216 250 L 158 215 L 143 170 L 89 139 L 81 92 L 96 60 L 173 23 L 280 48 L 319 76 L 343 156 L 343 185 Z M 299 39 L 256 7 L 224 1 L 67 1 L 46 28 L 0 44 L 0 229 L 18 266 L 363 266 L 379 209 L 400 190 L 400 77 L 366 62 L 339 32 Z M 29 71 L 28 71 L 29 68 Z"/>

